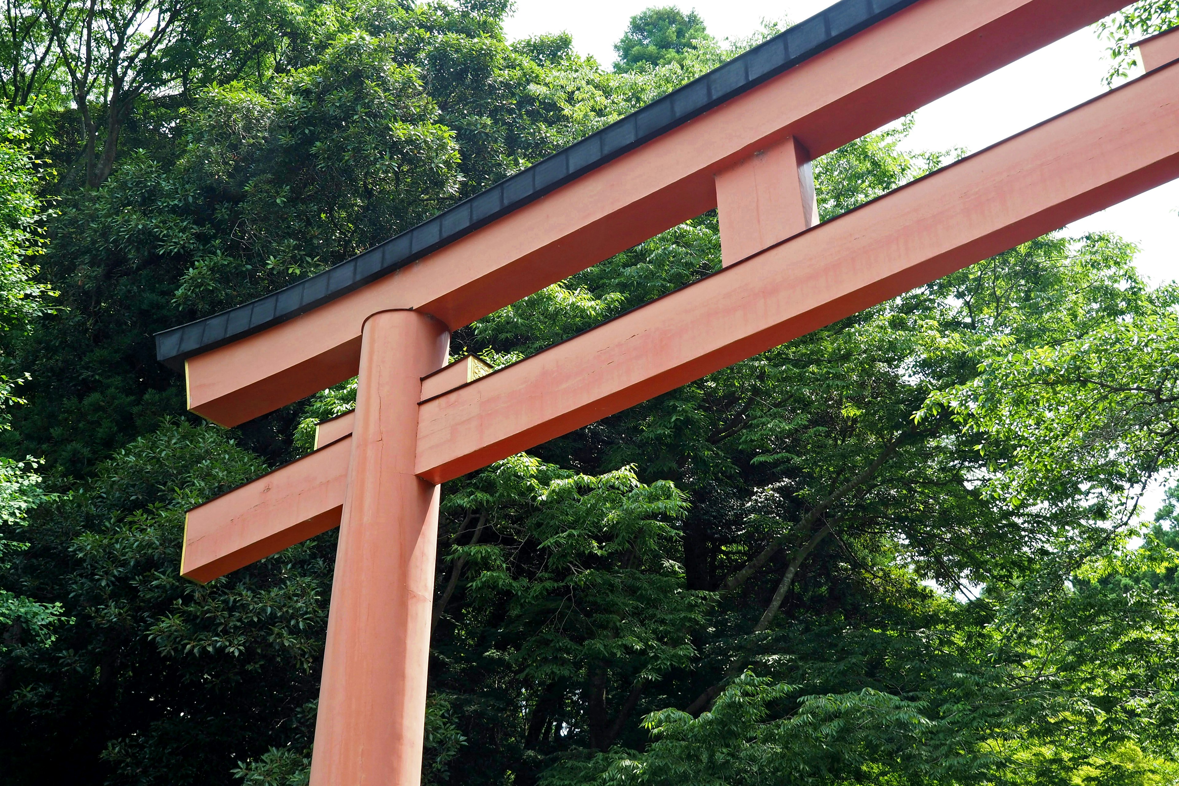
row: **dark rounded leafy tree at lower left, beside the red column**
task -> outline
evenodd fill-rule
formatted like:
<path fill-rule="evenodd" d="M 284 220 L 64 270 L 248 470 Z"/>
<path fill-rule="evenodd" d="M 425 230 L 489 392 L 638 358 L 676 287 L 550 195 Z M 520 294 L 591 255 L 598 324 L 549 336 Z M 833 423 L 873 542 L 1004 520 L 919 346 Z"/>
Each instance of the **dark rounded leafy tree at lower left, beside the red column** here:
<path fill-rule="evenodd" d="M 6 779 L 225 782 L 235 752 L 314 721 L 332 539 L 205 587 L 176 569 L 184 511 L 263 469 L 215 428 L 165 425 L 31 520 L 6 583 L 74 622 L 13 655 Z"/>

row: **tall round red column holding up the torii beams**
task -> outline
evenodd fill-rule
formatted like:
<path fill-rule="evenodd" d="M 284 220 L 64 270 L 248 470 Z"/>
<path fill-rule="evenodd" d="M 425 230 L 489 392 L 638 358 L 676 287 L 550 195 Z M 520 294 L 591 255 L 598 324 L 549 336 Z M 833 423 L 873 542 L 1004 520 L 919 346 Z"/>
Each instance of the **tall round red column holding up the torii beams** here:
<path fill-rule="evenodd" d="M 439 487 L 414 475 L 421 377 L 449 333 L 417 311 L 364 323 L 315 728 L 312 786 L 419 786 Z"/>

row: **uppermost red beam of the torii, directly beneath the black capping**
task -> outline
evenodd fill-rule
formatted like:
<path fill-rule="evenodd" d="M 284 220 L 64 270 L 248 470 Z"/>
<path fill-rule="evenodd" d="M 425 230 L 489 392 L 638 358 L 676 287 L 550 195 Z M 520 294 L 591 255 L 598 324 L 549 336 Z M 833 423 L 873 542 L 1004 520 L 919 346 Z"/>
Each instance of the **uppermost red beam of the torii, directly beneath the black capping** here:
<path fill-rule="evenodd" d="M 190 358 L 189 408 L 236 425 L 354 376 L 365 317 L 452 330 L 717 205 L 713 176 L 795 136 L 822 156 L 1117 11 L 1124 0 L 921 0 L 435 253 Z"/>

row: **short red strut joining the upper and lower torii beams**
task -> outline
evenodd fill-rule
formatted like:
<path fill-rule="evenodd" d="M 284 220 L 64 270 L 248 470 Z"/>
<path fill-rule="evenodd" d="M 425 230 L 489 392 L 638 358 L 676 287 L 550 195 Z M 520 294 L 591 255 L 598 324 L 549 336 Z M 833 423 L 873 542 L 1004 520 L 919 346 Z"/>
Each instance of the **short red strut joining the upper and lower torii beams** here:
<path fill-rule="evenodd" d="M 725 267 L 818 224 L 810 153 L 795 137 L 717 173 L 716 181 Z"/>

